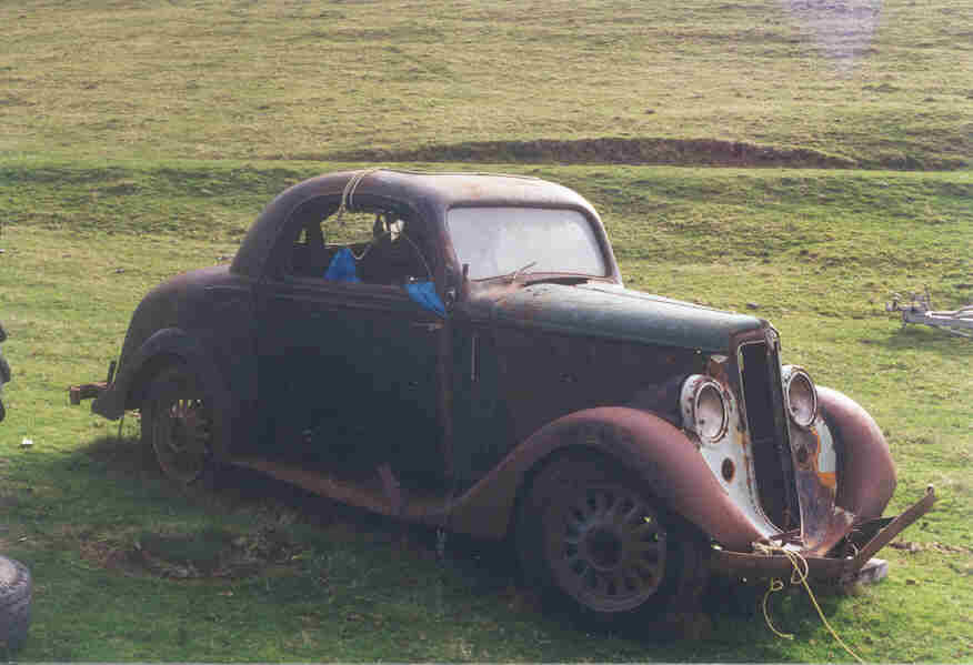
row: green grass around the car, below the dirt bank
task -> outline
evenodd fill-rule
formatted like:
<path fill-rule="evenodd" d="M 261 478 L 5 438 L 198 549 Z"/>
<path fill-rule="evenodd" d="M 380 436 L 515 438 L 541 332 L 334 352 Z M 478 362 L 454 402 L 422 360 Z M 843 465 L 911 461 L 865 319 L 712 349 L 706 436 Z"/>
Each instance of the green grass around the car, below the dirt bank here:
<path fill-rule="evenodd" d="M 800 595 L 771 604 L 794 642 L 735 609 L 715 612 L 701 642 L 593 636 L 538 612 L 502 551 L 463 545 L 440 567 L 430 534 L 409 532 L 403 548 L 389 524 L 279 487 L 248 491 L 247 480 L 180 494 L 131 445 L 131 417 L 118 441 L 113 424 L 67 405 L 67 385 L 103 375 L 149 288 L 232 255 L 269 197 L 335 168 L 4 164 L 0 201 L 13 218 L 0 236 L 0 283 L 17 288 L 0 290 L 16 372 L 0 432 L 0 502 L 12 508 L 0 550 L 37 577 L 22 658 L 846 659 Z M 891 577 L 825 598 L 829 621 L 869 661 L 969 659 L 973 345 L 903 331 L 883 302 L 923 285 L 944 308 L 971 300 L 971 173 L 504 168 L 589 197 L 629 285 L 756 305 L 780 329 L 786 362 L 875 415 L 900 471 L 891 510 L 929 482 L 942 498 L 903 536 L 922 548 L 886 548 Z M 19 447 L 24 436 L 33 447 Z M 221 542 L 205 534 L 254 542 L 268 531 L 284 534 L 293 558 L 248 576 L 180 578 L 132 563 L 146 534 L 169 537 L 156 548 L 178 563 L 184 536 L 199 536 L 202 552 L 182 556 L 205 560 Z"/>

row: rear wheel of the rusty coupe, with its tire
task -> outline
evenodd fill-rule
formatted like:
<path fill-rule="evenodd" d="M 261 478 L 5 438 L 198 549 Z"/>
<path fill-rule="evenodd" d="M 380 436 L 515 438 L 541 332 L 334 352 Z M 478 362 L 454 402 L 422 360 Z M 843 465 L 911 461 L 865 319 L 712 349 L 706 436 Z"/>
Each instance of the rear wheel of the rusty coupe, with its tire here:
<path fill-rule="evenodd" d="M 162 472 L 189 485 L 212 471 L 212 400 L 184 365 L 162 370 L 142 404 L 142 444 Z"/>

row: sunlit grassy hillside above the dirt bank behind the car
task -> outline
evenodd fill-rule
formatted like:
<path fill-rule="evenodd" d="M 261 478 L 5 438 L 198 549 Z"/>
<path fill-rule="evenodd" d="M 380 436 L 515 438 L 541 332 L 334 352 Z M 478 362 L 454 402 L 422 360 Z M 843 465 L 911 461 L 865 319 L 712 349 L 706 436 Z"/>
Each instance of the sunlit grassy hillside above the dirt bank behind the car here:
<path fill-rule="evenodd" d="M 971 17 L 971 0 L 8 2 L 0 152 L 457 159 L 499 141 L 479 161 L 505 161 L 504 142 L 612 137 L 955 168 Z"/>

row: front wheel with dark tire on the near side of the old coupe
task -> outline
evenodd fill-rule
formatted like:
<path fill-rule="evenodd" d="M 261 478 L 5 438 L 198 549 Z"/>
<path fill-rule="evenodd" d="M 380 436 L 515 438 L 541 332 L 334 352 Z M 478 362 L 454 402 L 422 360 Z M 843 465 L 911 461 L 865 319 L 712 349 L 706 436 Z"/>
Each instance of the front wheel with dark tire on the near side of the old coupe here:
<path fill-rule="evenodd" d="M 538 473 L 515 536 L 528 583 L 599 624 L 661 615 L 699 586 L 692 528 L 596 453 L 564 454 Z"/>

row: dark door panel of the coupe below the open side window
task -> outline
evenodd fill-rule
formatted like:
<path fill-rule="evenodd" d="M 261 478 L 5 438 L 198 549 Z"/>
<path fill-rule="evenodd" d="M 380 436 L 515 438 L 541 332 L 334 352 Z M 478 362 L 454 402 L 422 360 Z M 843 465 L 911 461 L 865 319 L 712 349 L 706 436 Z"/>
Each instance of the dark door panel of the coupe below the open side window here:
<path fill-rule="evenodd" d="M 372 260 L 378 260 L 372 256 Z M 282 270 L 258 294 L 262 453 L 439 477 L 444 320 L 402 285 Z"/>

